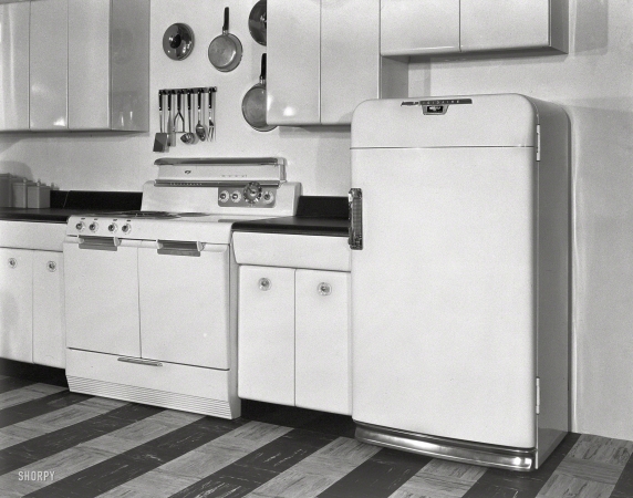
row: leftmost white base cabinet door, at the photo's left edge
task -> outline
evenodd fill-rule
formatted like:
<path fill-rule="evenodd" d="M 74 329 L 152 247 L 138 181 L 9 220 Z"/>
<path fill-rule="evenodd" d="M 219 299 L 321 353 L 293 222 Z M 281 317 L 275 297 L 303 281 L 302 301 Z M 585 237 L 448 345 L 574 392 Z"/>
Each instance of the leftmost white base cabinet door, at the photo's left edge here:
<path fill-rule="evenodd" d="M 33 361 L 33 253 L 0 249 L 0 356 Z"/>

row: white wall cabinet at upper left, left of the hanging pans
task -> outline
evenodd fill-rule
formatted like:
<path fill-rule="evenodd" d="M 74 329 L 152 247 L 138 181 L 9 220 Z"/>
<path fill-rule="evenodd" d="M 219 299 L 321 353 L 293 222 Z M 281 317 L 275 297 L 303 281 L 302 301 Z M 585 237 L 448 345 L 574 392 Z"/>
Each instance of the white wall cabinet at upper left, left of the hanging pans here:
<path fill-rule="evenodd" d="M 0 131 L 147 131 L 149 0 L 0 4 Z"/>

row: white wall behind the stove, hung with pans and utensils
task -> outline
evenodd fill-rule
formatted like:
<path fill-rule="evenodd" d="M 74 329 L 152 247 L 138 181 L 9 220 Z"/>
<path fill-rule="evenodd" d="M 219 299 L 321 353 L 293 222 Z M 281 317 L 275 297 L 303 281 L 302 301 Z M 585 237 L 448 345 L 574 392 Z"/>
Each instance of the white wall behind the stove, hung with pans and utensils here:
<path fill-rule="evenodd" d="M 241 115 L 243 94 L 259 81 L 266 50 L 248 31 L 251 0 L 152 0 L 151 131 L 144 134 L 0 134 L 0 173 L 54 183 L 61 189 L 139 190 L 156 175 L 158 157 L 280 156 L 288 179 L 301 181 L 308 195 L 346 195 L 350 188 L 350 128 L 276 128 L 256 132 Z M 207 49 L 221 33 L 224 8 L 230 30 L 242 42 L 243 59 L 230 73 L 217 71 Z M 175 22 L 189 24 L 196 44 L 188 59 L 173 61 L 163 52 L 163 34 Z M 292 41 L 289 40 L 289 43 Z M 300 70 L 300 69 L 299 69 Z M 152 152 L 158 131 L 157 92 L 165 87 L 217 86 L 215 142 L 185 145 L 167 154 Z"/>

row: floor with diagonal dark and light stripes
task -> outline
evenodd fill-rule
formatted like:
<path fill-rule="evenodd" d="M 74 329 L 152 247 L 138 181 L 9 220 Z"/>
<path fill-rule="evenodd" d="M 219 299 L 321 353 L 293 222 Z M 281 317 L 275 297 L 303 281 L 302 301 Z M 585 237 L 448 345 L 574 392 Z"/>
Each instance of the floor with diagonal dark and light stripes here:
<path fill-rule="evenodd" d="M 361 444 L 349 417 L 248 402 L 245 414 L 0 375 L 0 497 L 633 498 L 627 440 L 570 434 L 518 474 Z"/>

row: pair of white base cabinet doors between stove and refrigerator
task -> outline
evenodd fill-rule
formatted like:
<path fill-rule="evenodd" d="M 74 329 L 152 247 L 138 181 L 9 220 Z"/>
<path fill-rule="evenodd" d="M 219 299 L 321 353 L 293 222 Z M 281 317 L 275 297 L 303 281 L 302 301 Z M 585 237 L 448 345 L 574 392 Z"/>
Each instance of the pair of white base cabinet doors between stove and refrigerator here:
<path fill-rule="evenodd" d="M 238 395 L 351 414 L 350 273 L 240 267 Z"/>

